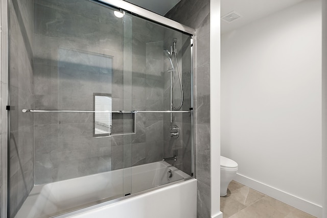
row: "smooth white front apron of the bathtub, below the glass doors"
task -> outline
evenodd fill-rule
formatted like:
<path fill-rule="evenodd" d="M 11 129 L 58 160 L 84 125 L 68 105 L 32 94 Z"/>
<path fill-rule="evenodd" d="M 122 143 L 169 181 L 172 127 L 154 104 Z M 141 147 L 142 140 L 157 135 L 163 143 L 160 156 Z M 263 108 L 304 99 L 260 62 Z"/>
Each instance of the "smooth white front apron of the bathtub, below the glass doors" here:
<path fill-rule="evenodd" d="M 116 203 L 102 203 L 56 218 L 196 218 L 197 180 L 159 188 Z"/>

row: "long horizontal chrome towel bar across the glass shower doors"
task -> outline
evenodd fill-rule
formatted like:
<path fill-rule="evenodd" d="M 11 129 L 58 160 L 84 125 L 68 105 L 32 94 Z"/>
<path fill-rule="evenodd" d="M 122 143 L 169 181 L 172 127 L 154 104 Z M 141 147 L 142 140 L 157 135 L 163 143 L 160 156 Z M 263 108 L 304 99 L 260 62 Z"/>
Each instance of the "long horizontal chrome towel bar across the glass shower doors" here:
<path fill-rule="evenodd" d="M 94 110 L 35 110 L 22 109 L 23 113 L 190 113 L 191 111 L 94 111 Z"/>

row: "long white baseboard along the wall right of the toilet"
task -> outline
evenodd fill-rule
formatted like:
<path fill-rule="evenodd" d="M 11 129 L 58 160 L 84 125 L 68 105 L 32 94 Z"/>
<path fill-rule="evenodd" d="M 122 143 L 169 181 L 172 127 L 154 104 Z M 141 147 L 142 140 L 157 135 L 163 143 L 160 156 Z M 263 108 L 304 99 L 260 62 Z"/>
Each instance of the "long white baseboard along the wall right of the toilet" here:
<path fill-rule="evenodd" d="M 316 216 L 318 218 L 322 217 L 322 206 L 298 198 L 296 196 L 291 195 L 290 193 L 276 189 L 274 187 L 255 181 L 240 174 L 237 174 L 234 180 L 250 188 L 253 188 L 254 190 L 260 191 L 267 196 L 277 199 L 278 201 L 282 201 L 288 205 L 291 205 L 292 207 L 309 213 L 313 216 Z"/>

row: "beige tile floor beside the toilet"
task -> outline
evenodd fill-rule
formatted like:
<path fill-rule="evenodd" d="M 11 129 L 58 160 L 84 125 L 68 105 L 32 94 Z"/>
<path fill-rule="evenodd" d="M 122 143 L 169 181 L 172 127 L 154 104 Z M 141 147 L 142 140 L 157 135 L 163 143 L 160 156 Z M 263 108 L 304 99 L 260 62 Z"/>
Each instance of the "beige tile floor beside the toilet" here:
<path fill-rule="evenodd" d="M 224 218 L 314 218 L 283 202 L 236 181 L 228 186 L 227 196 L 220 197 Z"/>

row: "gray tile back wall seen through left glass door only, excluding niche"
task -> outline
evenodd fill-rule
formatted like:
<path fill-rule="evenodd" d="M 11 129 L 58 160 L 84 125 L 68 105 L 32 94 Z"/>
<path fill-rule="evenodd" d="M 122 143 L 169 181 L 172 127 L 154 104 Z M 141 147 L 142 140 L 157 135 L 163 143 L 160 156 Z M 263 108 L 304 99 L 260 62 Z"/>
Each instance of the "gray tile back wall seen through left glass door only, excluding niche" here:
<path fill-rule="evenodd" d="M 123 19 L 112 12 L 35 0 L 35 108 L 93 110 L 94 93 L 108 93 L 112 110 L 124 110 Z M 34 122 L 35 184 L 123 167 L 122 137 L 93 137 L 93 114 L 35 113 Z"/>

